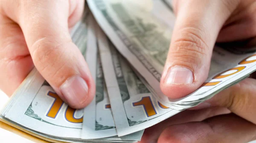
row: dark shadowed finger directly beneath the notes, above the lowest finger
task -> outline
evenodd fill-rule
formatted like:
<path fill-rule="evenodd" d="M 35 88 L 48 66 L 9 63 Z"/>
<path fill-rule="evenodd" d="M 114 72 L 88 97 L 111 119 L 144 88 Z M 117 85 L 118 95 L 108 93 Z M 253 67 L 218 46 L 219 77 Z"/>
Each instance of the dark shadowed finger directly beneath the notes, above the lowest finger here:
<path fill-rule="evenodd" d="M 177 115 L 172 116 L 165 121 L 162 121 L 148 129 L 145 129 L 140 143 L 156 143 L 160 134 L 166 127 L 195 121 L 203 121 L 216 115 L 228 114 L 230 111 L 227 108 L 207 108 L 198 111 L 185 110 Z"/>

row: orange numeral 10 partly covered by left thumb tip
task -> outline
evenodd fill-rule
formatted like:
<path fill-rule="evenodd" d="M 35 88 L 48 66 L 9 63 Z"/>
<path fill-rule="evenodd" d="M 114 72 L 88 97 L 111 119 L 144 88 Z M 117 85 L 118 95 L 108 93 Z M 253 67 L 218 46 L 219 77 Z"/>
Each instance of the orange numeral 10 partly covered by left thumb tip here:
<path fill-rule="evenodd" d="M 61 100 L 61 98 L 59 98 L 59 96 L 56 93 L 52 93 L 52 92 L 48 92 L 48 94 L 50 97 L 55 98 L 54 102 L 52 103 L 51 108 L 49 109 L 49 111 L 47 112 L 47 117 L 49 118 L 53 118 L 55 119 L 56 116 L 58 115 L 58 112 L 61 110 L 62 105 L 64 104 L 64 102 Z M 71 107 L 67 107 L 66 111 L 65 111 L 65 118 L 67 121 L 71 122 L 71 123 L 82 123 L 83 122 L 83 117 L 81 118 L 75 118 L 76 110 L 71 108 Z"/>

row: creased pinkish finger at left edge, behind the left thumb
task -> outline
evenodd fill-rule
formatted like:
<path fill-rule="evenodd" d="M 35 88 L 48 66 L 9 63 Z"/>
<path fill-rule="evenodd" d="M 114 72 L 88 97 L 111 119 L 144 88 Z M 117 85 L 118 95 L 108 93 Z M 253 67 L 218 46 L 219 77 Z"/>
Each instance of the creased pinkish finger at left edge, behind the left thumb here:
<path fill-rule="evenodd" d="M 20 26 L 0 14 L 0 89 L 11 96 L 33 67 Z"/>

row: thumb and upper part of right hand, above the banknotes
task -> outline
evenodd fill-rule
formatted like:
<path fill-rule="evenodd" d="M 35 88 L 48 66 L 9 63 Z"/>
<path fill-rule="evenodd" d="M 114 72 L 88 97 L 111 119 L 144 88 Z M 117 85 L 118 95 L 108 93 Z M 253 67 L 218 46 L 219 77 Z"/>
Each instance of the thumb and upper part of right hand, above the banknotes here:
<path fill-rule="evenodd" d="M 173 0 L 173 9 L 175 27 L 160 82 L 169 98 L 189 95 L 206 81 L 216 42 L 256 44 L 255 0 Z"/>

